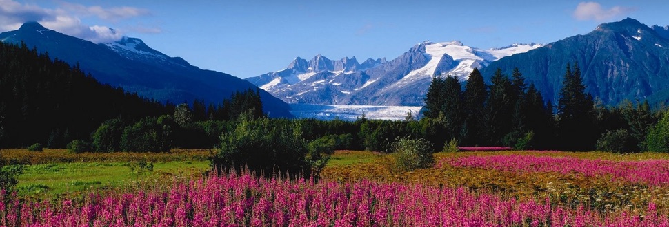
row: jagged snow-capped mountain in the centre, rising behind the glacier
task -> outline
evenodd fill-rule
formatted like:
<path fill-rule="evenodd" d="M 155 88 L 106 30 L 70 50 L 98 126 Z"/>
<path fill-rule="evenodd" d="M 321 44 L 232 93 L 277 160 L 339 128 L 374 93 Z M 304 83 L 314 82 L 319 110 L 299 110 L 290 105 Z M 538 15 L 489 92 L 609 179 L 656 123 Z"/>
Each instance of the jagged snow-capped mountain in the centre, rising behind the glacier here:
<path fill-rule="evenodd" d="M 465 80 L 477 67 L 504 56 L 527 52 L 540 44 L 513 44 L 483 50 L 459 41 L 425 41 L 392 61 L 354 58 L 330 61 L 318 55 L 296 58 L 286 69 L 247 78 L 289 103 L 326 105 L 422 105 L 433 76 Z"/>

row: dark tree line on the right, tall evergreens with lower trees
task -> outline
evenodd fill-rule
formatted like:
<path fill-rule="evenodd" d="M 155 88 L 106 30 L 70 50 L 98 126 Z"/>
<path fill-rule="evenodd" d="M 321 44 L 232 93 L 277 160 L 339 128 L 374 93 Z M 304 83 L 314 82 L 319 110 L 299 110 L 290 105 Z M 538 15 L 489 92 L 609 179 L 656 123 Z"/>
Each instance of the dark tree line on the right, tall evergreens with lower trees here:
<path fill-rule="evenodd" d="M 486 85 L 477 69 L 464 81 L 464 89 L 455 77 L 433 78 L 423 114 L 445 128 L 444 136 L 465 146 L 669 151 L 669 138 L 654 136 L 669 131 L 658 128 L 666 110 L 652 111 L 647 101 L 601 105 L 586 93 L 577 63 L 566 66 L 557 106 L 544 102 L 517 68 L 510 77 L 497 69 L 490 82 Z"/>

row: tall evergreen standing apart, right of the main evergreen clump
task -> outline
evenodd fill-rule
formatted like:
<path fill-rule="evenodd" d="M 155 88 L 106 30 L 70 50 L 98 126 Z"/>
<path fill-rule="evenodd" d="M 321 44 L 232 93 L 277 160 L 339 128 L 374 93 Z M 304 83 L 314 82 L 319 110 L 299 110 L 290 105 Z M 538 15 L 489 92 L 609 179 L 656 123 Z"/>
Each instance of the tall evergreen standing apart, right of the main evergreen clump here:
<path fill-rule="evenodd" d="M 595 147 L 597 131 L 594 124 L 594 103 L 586 94 L 581 69 L 575 63 L 574 72 L 567 65 L 560 89 L 557 114 L 559 116 L 559 143 L 568 151 L 590 151 Z"/>

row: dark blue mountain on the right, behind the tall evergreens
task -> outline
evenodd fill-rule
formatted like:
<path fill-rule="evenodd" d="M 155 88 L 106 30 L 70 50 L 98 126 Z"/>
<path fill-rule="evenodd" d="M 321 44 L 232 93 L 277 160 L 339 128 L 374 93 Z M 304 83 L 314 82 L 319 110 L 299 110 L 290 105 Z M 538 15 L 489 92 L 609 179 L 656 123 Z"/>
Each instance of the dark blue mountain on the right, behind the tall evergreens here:
<path fill-rule="evenodd" d="M 584 35 L 571 36 L 545 47 L 491 63 L 509 74 L 518 67 L 546 100 L 557 103 L 566 65 L 578 63 L 586 92 L 605 105 L 623 100 L 669 100 L 669 27 L 648 27 L 635 19 L 602 23 Z"/>

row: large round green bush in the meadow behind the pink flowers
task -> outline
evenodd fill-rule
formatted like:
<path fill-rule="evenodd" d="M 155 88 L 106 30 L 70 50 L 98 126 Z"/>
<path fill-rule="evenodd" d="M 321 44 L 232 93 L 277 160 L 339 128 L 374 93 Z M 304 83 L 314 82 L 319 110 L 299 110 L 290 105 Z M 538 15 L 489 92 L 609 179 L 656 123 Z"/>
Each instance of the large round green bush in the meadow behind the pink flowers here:
<path fill-rule="evenodd" d="M 221 135 L 212 166 L 219 171 L 248 168 L 257 174 L 310 174 L 306 160 L 308 148 L 299 122 L 290 120 L 252 120 L 248 114 L 239 117 L 237 126 Z"/>

